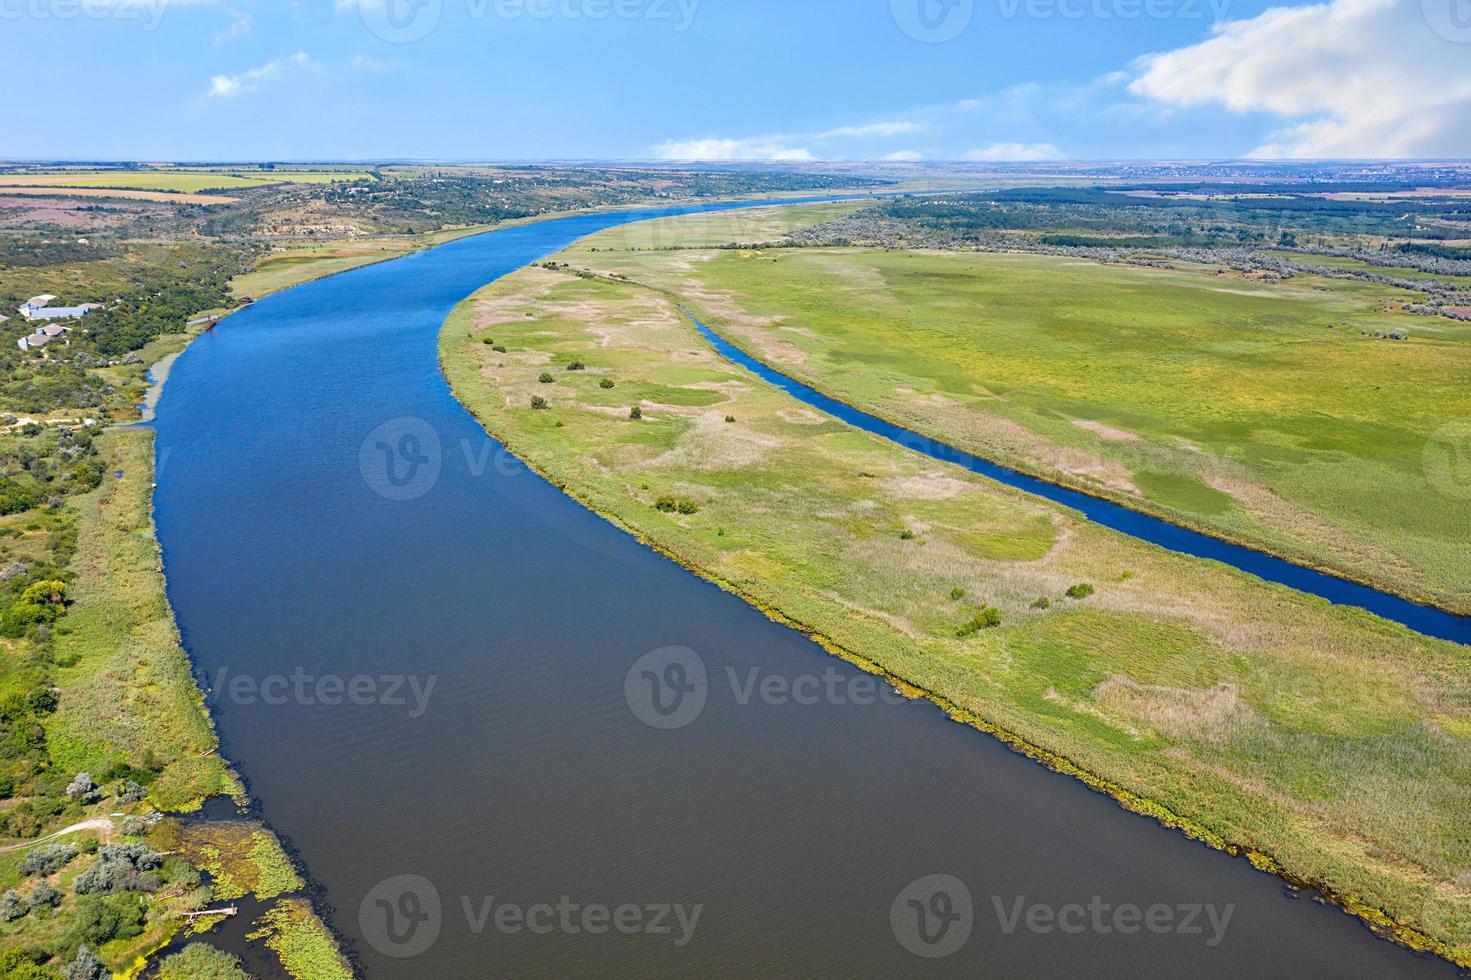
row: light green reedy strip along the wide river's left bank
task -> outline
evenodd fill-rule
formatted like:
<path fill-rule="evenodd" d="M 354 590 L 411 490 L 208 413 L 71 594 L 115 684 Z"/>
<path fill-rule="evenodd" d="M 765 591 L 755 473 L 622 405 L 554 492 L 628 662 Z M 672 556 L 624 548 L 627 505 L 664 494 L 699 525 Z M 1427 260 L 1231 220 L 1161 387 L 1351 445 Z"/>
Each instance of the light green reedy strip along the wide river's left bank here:
<path fill-rule="evenodd" d="M 265 902 L 268 912 L 282 902 L 293 908 L 309 908 L 309 902 L 279 840 L 259 821 L 191 821 L 185 831 L 175 817 L 215 796 L 243 802 L 244 789 L 221 756 L 165 594 L 150 518 L 153 433 L 115 430 L 101 440 L 109 477 L 75 502 L 78 543 L 68 578 L 74 605 L 56 637 L 60 708 L 47 739 L 62 773 L 91 773 L 101 783 L 106 774 L 125 771 L 144 787 L 146 796 L 137 802 L 104 798 L 99 803 L 109 814 L 141 821 L 129 825 L 119 817 L 116 825 L 124 830 L 101 834 L 103 840 L 137 840 L 160 853 L 182 855 L 165 865 L 165 887 L 147 896 L 143 931 L 96 948 L 116 973 L 131 976 L 181 930 L 209 942 L 207 923 L 187 924 L 185 911 L 241 896 Z M 150 817 L 154 812 L 162 820 Z M 231 853 L 227 842 L 238 828 L 247 828 L 254 846 Z M 50 918 L 34 917 L 38 937 L 49 936 L 53 926 L 66 926 L 69 906 L 82 901 L 66 889 L 76 868 L 91 861 L 82 851 L 50 876 L 63 898 Z M 206 883 L 191 868 L 206 873 Z M 303 936 L 296 942 L 315 946 L 319 959 L 331 959 L 340 970 L 293 976 L 350 977 L 315 912 L 297 912 L 296 920 Z"/>

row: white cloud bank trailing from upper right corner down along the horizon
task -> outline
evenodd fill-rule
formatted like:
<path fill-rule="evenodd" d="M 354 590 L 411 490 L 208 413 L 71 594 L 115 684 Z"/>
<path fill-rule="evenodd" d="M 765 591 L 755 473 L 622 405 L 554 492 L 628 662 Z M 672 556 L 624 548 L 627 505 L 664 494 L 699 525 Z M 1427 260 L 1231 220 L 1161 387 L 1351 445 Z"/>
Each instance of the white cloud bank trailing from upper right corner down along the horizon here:
<path fill-rule="evenodd" d="M 1072 153 L 1065 129 L 1055 141 L 993 138 L 959 146 L 971 129 L 1005 137 L 1005 121 L 989 112 L 1014 103 L 1014 115 L 1039 115 L 1043 100 L 1091 106 L 1116 118 L 1156 121 L 1203 107 L 1262 115 L 1275 127 L 1242 153 L 1255 159 L 1381 159 L 1471 156 L 1471 21 L 1456 19 L 1465 0 L 1330 0 L 1269 7 L 1258 16 L 1222 21 L 1212 37 L 1146 54 L 1127 68 L 1059 91 L 1056 84 L 1019 84 L 947 107 L 919 107 L 918 121 L 849 125 L 808 135 L 666 140 L 663 160 L 847 159 L 837 135 L 899 135 L 949 129 L 952 143 L 890 150 L 886 160 L 1033 162 Z M 1442 9 L 1443 7 L 1443 9 Z M 1016 106 L 1031 96 L 1033 106 Z M 971 115 L 971 125 L 958 116 Z M 941 121 L 949 121 L 944 125 Z"/>

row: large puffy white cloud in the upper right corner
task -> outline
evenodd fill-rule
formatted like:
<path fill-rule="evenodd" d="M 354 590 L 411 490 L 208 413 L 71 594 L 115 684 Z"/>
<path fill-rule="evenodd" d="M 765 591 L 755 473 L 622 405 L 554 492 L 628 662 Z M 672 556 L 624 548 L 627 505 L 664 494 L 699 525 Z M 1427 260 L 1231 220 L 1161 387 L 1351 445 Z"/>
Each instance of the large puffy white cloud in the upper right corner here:
<path fill-rule="evenodd" d="M 1136 65 L 1136 96 L 1287 125 L 1252 156 L 1471 155 L 1471 56 L 1421 0 L 1331 0 L 1228 21 L 1200 44 Z"/>

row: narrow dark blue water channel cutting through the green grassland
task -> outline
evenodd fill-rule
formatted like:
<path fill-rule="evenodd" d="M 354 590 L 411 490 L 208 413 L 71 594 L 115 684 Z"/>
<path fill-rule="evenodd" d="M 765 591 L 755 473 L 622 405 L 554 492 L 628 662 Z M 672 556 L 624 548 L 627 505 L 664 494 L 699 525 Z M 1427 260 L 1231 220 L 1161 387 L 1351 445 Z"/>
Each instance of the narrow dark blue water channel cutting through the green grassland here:
<path fill-rule="evenodd" d="M 688 315 L 688 310 L 685 310 L 685 315 Z M 918 453 L 924 453 L 933 459 L 955 464 L 956 466 L 965 466 L 971 472 L 978 472 L 999 483 L 1005 483 L 1006 486 L 1025 490 L 1027 493 L 1034 493 L 1039 497 L 1044 497 L 1055 503 L 1062 503 L 1081 512 L 1090 521 L 1096 521 L 1106 528 L 1121 531 L 1130 537 L 1137 537 L 1183 555 L 1193 555 L 1194 558 L 1208 558 L 1211 561 L 1222 562 L 1233 568 L 1240 568 L 1244 572 L 1250 572 L 1259 578 L 1265 578 L 1267 581 L 1275 581 L 1283 586 L 1297 589 L 1299 592 L 1321 596 L 1336 605 L 1368 609 L 1375 615 L 1393 619 L 1395 622 L 1406 625 L 1417 633 L 1424 633 L 1425 636 L 1439 637 L 1442 640 L 1455 640 L 1456 643 L 1471 643 L 1471 617 L 1461 617 L 1433 606 L 1424 606 L 1409 602 L 1408 599 L 1362 586 L 1356 581 L 1339 578 L 1337 575 L 1328 575 L 1312 568 L 1303 568 L 1302 565 L 1283 561 L 1281 558 L 1267 555 L 1265 552 L 1242 547 L 1240 544 L 1222 542 L 1221 539 L 1211 537 L 1208 534 L 1199 534 L 1177 524 L 1161 521 L 1159 518 L 1147 514 L 1131 511 L 1130 508 L 1114 503 L 1112 500 L 1059 487 L 1053 483 L 1018 472 L 1016 469 L 1002 466 L 1000 464 L 983 459 L 934 438 L 928 438 L 903 428 L 902 425 L 894 425 L 893 422 L 881 419 L 877 415 L 869 415 L 868 412 L 856 409 L 852 405 L 822 394 L 816 388 L 802 384 L 800 381 L 781 374 L 756 358 L 752 358 L 749 353 L 716 334 L 694 316 L 690 316 L 690 321 L 705 335 L 705 338 L 709 340 L 715 349 L 730 361 L 734 361 L 747 371 L 756 374 L 763 381 L 775 384 L 812 408 L 843 419 L 849 425 L 856 425 L 868 433 L 883 436 L 887 440 L 906 446 Z"/>

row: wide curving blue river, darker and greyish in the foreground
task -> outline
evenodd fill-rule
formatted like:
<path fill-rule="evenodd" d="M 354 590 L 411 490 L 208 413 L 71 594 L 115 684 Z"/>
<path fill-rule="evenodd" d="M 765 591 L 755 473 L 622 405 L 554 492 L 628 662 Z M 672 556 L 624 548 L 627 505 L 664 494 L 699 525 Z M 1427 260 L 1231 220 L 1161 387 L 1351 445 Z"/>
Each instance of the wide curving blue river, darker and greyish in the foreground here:
<path fill-rule="evenodd" d="M 184 642 L 368 977 L 1453 976 L 874 697 L 505 458 L 440 374 L 444 316 L 684 210 L 306 284 L 174 366 L 154 500 Z M 690 652 L 635 668 L 671 646 Z M 640 700 L 699 667 L 697 714 L 674 687 L 669 715 Z"/>

